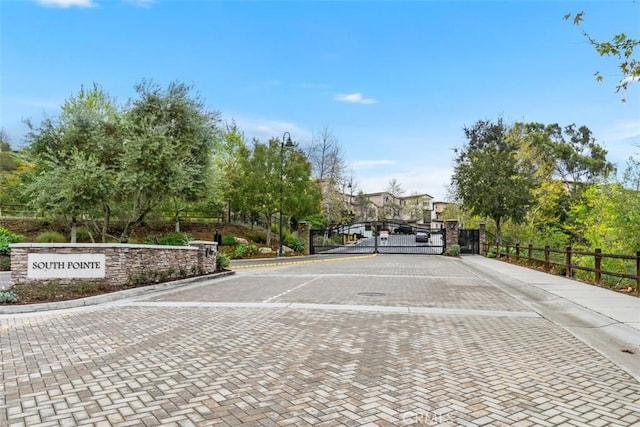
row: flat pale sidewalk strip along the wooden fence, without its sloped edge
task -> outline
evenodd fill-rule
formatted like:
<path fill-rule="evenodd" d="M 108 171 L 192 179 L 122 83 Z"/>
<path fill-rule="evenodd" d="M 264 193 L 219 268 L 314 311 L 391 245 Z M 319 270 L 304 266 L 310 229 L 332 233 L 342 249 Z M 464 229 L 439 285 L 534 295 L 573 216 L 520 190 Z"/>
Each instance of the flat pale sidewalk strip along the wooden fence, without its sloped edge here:
<path fill-rule="evenodd" d="M 556 296 L 609 318 L 615 323 L 640 330 L 638 297 L 479 255 L 465 256 L 464 262 L 477 266 L 485 273 L 487 270 L 493 270 L 503 280 L 514 279 L 544 291 L 548 295 L 547 298 L 544 298 L 544 295 L 542 297 L 547 302 L 549 297 Z"/>

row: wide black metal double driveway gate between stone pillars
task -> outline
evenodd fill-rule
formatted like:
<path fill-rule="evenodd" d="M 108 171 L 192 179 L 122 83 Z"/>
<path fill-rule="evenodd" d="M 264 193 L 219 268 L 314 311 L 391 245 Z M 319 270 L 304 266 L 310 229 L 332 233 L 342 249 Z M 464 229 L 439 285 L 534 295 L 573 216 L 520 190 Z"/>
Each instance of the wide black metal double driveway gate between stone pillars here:
<path fill-rule="evenodd" d="M 421 254 L 441 255 L 445 229 L 381 221 L 311 230 L 312 254 Z"/>

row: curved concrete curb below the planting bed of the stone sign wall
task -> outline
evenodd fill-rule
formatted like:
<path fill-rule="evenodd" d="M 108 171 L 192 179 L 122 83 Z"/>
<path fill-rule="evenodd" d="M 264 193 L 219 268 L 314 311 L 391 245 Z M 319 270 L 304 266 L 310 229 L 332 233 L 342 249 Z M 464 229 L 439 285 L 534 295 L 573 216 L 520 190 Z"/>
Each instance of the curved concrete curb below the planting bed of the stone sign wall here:
<path fill-rule="evenodd" d="M 206 276 L 190 277 L 172 282 L 158 283 L 156 285 L 142 286 L 139 288 L 125 289 L 122 291 L 111 292 L 103 295 L 96 295 L 87 298 L 78 298 L 68 301 L 49 302 L 42 304 L 24 304 L 24 305 L 0 305 L 0 314 L 19 314 L 34 313 L 50 310 L 65 310 L 69 308 L 86 307 L 91 305 L 104 304 L 107 302 L 117 301 L 124 298 L 133 298 L 140 295 L 146 295 L 152 292 L 166 291 L 178 289 L 194 283 L 200 283 L 207 280 L 219 279 L 236 274 L 235 271 L 222 271 L 219 273 L 207 274 Z"/>

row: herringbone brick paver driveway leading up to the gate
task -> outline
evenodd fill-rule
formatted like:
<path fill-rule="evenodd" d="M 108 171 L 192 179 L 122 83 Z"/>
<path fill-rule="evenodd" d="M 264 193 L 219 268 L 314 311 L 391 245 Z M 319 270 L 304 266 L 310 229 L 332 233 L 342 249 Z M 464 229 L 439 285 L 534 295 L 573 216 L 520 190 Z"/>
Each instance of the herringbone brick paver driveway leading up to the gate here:
<path fill-rule="evenodd" d="M 445 257 L 243 268 L 0 327 L 1 425 L 640 423 L 626 371 Z"/>

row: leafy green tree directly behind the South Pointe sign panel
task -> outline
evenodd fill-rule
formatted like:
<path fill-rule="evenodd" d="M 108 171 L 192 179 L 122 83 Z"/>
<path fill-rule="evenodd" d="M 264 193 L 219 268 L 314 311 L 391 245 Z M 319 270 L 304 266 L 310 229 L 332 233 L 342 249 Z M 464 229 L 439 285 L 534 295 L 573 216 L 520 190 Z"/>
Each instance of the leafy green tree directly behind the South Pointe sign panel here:
<path fill-rule="evenodd" d="M 69 218 L 71 241 L 75 241 L 80 216 L 93 224 L 102 217 L 99 228 L 106 241 L 125 135 L 115 101 L 98 85 L 81 87 L 62 105 L 57 120 L 46 118 L 39 127 L 27 124 L 36 172 L 29 186 L 32 203 Z M 50 194 L 52 191 L 56 194 Z"/>

